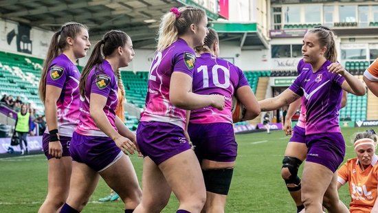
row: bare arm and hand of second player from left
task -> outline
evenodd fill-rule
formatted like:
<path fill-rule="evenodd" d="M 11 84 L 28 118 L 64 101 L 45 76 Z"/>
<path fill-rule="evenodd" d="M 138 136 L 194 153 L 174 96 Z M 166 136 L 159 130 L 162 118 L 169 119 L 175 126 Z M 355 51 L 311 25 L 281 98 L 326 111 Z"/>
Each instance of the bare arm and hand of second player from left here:
<path fill-rule="evenodd" d="M 89 114 L 93 118 L 94 122 L 100 128 L 102 132 L 108 135 L 115 144 L 124 152 L 126 150 L 133 154 L 137 150 L 135 144 L 131 142 L 130 139 L 123 137 L 115 131 L 113 126 L 111 126 L 107 115 L 104 113 L 104 106 L 107 104 L 107 97 L 102 96 L 98 93 L 91 93 L 91 102 L 89 102 Z"/>

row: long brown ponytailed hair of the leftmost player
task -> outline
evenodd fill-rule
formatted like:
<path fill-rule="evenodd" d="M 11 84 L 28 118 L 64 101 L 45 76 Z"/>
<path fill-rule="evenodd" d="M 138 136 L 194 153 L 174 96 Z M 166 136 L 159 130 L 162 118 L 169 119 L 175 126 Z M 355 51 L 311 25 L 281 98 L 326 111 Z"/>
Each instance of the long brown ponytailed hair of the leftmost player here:
<path fill-rule="evenodd" d="M 39 97 L 42 102 L 45 102 L 46 98 L 46 77 L 47 69 L 54 58 L 58 56 L 67 47 L 67 37 L 76 38 L 76 36 L 81 32 L 82 29 L 88 30 L 88 27 L 76 22 L 67 22 L 58 32 L 55 32 L 50 41 L 49 49 L 47 50 L 47 56 L 43 65 L 41 80 L 39 81 Z"/>

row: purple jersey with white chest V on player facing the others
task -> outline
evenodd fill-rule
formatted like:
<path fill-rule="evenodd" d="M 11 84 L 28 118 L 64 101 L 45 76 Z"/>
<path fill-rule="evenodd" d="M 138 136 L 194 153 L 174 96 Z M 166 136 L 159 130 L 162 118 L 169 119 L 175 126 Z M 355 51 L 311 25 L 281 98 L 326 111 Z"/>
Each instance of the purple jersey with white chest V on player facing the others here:
<path fill-rule="evenodd" d="M 342 100 L 342 83 L 345 78 L 329 73 L 326 62 L 313 73 L 303 71 L 289 87 L 291 91 L 303 96 L 306 112 L 306 135 L 316 133 L 340 133 L 339 111 Z"/>

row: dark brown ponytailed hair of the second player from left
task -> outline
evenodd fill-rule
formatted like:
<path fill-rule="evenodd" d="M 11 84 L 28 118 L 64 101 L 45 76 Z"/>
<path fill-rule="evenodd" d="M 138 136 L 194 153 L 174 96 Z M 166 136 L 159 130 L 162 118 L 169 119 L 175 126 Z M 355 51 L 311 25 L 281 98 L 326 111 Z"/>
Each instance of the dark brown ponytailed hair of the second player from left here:
<path fill-rule="evenodd" d="M 130 37 L 125 32 L 120 30 L 111 30 L 104 34 L 101 41 L 98 41 L 93 47 L 91 56 L 88 59 L 87 65 L 82 69 L 82 74 L 80 78 L 80 96 L 85 96 L 85 84 L 91 69 L 96 66 L 96 69 L 101 70 L 102 67 L 99 65 L 104 61 L 104 57 L 110 56 L 113 54 L 114 50 L 118 47 L 124 47 Z M 102 48 L 101 48 L 102 47 Z M 116 71 L 120 71 L 117 69 Z"/>

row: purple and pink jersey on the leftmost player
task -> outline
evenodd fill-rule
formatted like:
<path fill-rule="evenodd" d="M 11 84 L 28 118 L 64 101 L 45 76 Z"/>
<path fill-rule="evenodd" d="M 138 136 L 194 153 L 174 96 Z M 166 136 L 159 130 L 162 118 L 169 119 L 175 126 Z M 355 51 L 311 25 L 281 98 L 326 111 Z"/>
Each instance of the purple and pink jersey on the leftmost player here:
<path fill-rule="evenodd" d="M 65 54 L 60 54 L 52 60 L 46 76 L 46 85 L 62 89 L 56 109 L 59 135 L 65 137 L 72 137 L 79 123 L 79 81 L 78 67 Z M 49 133 L 47 128 L 45 133 Z"/>

